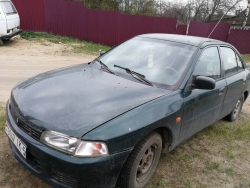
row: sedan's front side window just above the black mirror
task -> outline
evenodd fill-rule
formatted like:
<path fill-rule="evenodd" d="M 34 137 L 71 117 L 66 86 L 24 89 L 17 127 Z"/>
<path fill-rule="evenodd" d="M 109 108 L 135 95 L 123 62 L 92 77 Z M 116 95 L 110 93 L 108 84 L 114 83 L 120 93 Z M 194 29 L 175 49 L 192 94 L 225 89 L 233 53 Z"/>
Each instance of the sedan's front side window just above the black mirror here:
<path fill-rule="evenodd" d="M 194 76 L 221 77 L 220 57 L 217 47 L 205 49 L 195 67 Z"/>

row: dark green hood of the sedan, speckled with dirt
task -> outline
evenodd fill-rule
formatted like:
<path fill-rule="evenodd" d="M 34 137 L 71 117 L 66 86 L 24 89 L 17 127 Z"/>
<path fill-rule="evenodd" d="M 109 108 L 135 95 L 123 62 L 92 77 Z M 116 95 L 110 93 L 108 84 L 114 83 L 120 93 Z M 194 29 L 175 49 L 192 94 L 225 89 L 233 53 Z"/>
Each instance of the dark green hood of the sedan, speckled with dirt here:
<path fill-rule="evenodd" d="M 21 116 L 47 130 L 81 137 L 101 124 L 170 93 L 82 64 L 30 78 L 12 90 Z"/>

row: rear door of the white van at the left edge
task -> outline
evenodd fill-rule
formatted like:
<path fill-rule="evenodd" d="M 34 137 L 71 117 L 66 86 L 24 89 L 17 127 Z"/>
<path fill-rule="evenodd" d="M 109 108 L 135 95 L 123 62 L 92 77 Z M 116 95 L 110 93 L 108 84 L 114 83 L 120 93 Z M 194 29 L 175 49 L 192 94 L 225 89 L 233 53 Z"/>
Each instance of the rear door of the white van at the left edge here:
<path fill-rule="evenodd" d="M 1 1 L 0 4 L 6 16 L 7 30 L 11 30 L 10 33 L 14 32 L 20 25 L 17 10 L 11 1 Z"/>

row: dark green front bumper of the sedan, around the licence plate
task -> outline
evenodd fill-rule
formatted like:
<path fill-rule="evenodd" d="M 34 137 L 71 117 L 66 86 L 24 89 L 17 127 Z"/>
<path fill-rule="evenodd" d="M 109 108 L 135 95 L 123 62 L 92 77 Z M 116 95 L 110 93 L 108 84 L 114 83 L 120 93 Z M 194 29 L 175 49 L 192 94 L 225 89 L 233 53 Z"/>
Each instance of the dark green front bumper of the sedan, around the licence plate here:
<path fill-rule="evenodd" d="M 26 159 L 9 140 L 16 159 L 53 187 L 114 187 L 129 151 L 98 158 L 76 158 L 49 148 L 23 132 L 6 106 L 7 123 L 26 144 Z"/>

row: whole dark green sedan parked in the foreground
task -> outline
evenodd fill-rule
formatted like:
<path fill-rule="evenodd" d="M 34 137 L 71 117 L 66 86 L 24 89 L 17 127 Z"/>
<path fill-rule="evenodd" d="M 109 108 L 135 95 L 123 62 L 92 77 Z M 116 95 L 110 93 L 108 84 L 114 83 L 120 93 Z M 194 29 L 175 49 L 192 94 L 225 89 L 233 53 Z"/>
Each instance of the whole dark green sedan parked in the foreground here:
<path fill-rule="evenodd" d="M 238 118 L 249 79 L 228 43 L 140 35 L 16 85 L 5 132 L 17 160 L 53 187 L 144 187 L 163 148 Z"/>

